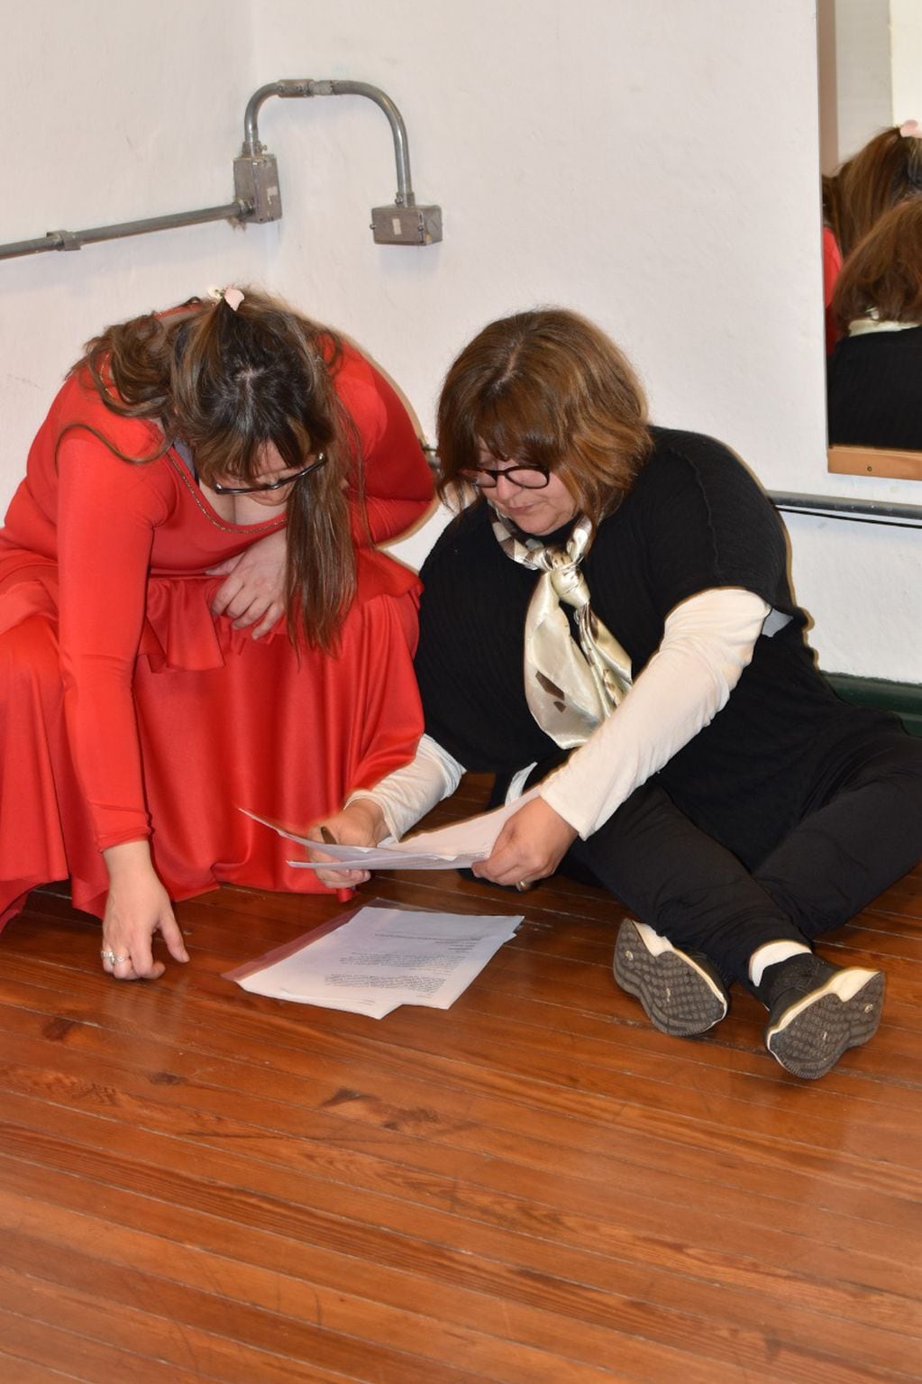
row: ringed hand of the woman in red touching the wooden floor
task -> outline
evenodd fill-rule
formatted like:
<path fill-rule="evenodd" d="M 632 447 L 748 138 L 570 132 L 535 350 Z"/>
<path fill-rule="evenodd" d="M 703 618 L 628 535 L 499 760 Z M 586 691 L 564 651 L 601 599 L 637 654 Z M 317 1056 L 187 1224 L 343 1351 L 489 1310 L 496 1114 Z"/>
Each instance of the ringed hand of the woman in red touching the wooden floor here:
<path fill-rule="evenodd" d="M 154 960 L 154 936 L 161 933 L 174 960 L 188 960 L 169 894 L 151 862 L 147 841 L 125 841 L 102 851 L 109 894 L 102 918 L 102 970 L 116 980 L 156 980 L 166 970 Z"/>

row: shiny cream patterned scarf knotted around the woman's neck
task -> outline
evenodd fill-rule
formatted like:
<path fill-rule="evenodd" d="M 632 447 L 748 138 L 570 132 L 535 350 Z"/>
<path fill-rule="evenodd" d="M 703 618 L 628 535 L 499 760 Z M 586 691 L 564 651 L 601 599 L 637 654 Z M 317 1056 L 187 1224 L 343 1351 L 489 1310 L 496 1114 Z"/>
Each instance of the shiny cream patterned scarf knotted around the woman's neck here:
<path fill-rule="evenodd" d="M 631 685 L 631 660 L 590 606 L 580 572 L 593 526 L 577 519 L 562 548 L 516 534 L 493 511 L 493 533 L 508 558 L 541 573 L 525 617 L 525 695 L 532 716 L 569 750 L 583 745 Z M 579 644 L 561 602 L 573 606 Z"/>

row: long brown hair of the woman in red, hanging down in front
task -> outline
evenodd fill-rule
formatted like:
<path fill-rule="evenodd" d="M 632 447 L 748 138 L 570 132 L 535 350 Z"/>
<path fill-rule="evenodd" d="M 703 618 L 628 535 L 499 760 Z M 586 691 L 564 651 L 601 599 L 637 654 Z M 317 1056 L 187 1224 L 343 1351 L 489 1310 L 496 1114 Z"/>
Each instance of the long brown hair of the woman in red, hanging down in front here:
<path fill-rule="evenodd" d="M 273 443 L 285 468 L 299 469 L 323 451 L 325 465 L 292 486 L 287 501 L 288 634 L 296 646 L 332 649 L 356 592 L 346 480 L 363 494 L 356 428 L 332 383 L 342 343 L 280 300 L 251 288 L 231 309 L 190 299 L 107 328 L 73 367 L 86 370 L 107 408 L 147 418 L 163 429 L 162 457 L 184 441 L 206 483 L 256 480 Z"/>

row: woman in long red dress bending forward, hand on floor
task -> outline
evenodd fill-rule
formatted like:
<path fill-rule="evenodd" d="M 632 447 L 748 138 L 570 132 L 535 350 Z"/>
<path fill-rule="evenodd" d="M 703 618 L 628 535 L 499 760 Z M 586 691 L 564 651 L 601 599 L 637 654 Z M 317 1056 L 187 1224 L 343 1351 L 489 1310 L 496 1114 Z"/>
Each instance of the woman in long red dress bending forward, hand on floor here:
<path fill-rule="evenodd" d="M 170 900 L 321 887 L 239 808 L 311 822 L 413 756 L 418 581 L 374 545 L 431 493 L 386 381 L 264 295 L 89 343 L 0 530 L 0 926 L 69 876 L 154 978 Z"/>

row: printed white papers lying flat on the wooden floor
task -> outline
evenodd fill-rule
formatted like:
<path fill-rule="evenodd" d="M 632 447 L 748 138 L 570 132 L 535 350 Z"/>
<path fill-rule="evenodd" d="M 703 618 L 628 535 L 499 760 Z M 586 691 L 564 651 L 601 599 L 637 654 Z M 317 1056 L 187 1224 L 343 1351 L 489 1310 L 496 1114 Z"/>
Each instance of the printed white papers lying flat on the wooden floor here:
<path fill-rule="evenodd" d="M 447 1009 L 521 922 L 521 913 L 480 918 L 375 900 L 226 978 L 257 995 L 374 1019 L 399 1005 Z"/>

